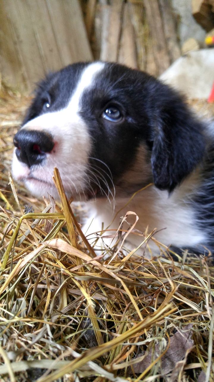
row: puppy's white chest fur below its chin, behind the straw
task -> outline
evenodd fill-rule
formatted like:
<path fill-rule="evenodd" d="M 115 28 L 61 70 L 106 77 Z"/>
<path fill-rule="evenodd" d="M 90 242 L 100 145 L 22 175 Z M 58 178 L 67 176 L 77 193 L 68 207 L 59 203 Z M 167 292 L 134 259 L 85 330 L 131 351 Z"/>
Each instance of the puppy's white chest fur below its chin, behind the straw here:
<path fill-rule="evenodd" d="M 116 200 L 116 207 L 113 212 L 109 203 L 98 200 L 96 205 L 94 204 L 91 208 L 88 222 L 85 225 L 85 227 L 88 227 L 91 223 L 88 233 L 100 231 L 103 224 L 104 228 L 109 226 L 109 229 L 112 229 L 110 233 L 113 234 L 119 226 L 120 217 L 125 216 L 127 211 L 133 211 L 139 217 L 135 228 L 145 233 L 145 235 L 149 235 L 154 228 L 157 228 L 153 237 L 166 246 L 172 244 L 179 248 L 187 248 L 204 243 L 205 237 L 196 227 L 191 204 L 179 199 L 176 193 L 168 196 L 166 191 L 151 187 L 149 191 L 145 190 L 140 197 L 135 197 L 133 201 L 124 207 L 127 201 L 128 199 Z M 120 212 L 117 214 L 119 210 Z M 135 219 L 135 215 L 129 215 L 127 218 L 131 225 Z M 124 229 L 129 227 L 130 225 L 126 223 L 123 225 Z M 143 240 L 144 237 L 137 235 L 137 232 L 135 232 L 129 234 L 127 243 L 130 244 L 129 248 L 133 249 L 141 244 Z M 106 241 L 107 245 L 109 245 L 110 241 Z M 152 251 L 159 251 L 155 241 L 150 240 L 149 246 Z"/>

